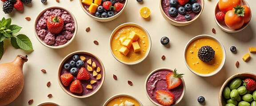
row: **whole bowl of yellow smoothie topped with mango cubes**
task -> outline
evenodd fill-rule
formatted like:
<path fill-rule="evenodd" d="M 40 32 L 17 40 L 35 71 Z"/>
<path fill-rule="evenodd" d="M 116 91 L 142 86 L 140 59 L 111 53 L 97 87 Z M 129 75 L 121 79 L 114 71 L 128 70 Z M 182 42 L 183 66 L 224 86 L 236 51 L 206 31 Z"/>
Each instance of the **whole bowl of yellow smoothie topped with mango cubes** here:
<path fill-rule="evenodd" d="M 123 23 L 113 30 L 110 38 L 110 51 L 117 61 L 123 64 L 138 64 L 151 50 L 148 31 L 136 23 Z"/>

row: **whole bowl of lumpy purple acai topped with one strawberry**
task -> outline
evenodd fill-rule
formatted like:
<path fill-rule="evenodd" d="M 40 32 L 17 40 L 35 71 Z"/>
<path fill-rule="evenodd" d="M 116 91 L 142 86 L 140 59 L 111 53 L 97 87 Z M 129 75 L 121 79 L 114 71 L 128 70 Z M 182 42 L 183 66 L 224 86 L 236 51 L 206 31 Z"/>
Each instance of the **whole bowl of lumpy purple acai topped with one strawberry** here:
<path fill-rule="evenodd" d="M 34 32 L 37 40 L 44 46 L 60 49 L 69 45 L 75 38 L 76 18 L 62 7 L 45 8 L 36 17 Z"/>

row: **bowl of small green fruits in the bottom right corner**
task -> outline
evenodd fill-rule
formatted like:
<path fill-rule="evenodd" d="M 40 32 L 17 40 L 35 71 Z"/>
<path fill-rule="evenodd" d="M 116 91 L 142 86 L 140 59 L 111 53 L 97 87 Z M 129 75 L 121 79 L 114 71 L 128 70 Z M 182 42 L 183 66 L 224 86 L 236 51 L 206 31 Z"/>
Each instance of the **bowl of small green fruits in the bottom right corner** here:
<path fill-rule="evenodd" d="M 240 72 L 230 76 L 221 86 L 219 92 L 220 106 L 255 106 L 256 75 Z"/>

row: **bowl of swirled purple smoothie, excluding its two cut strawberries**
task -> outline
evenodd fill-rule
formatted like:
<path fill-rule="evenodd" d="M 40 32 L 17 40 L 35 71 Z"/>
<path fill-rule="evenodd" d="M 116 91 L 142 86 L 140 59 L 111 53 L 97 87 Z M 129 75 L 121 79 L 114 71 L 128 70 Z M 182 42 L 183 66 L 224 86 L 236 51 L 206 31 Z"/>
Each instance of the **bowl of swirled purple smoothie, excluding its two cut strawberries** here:
<path fill-rule="evenodd" d="M 170 72 L 173 72 L 173 70 L 169 68 L 157 68 L 148 75 L 145 81 L 148 99 L 157 106 L 162 106 L 156 100 L 156 91 L 158 90 L 164 90 L 174 94 L 174 102 L 171 106 L 177 105 L 185 94 L 185 82 L 183 78 L 181 78 L 181 84 L 178 87 L 168 90 L 165 76 Z"/>

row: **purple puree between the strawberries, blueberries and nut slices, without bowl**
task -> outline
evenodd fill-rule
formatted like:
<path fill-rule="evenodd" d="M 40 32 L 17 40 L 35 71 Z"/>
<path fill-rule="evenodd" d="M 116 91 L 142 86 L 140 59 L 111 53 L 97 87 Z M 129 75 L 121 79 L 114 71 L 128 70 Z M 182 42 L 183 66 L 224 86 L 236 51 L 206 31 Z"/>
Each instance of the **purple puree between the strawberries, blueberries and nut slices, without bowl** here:
<path fill-rule="evenodd" d="M 89 72 L 89 74 L 90 74 L 90 76 L 91 76 L 91 78 L 90 78 L 89 80 L 80 80 L 80 82 L 82 83 L 82 86 L 83 86 L 83 92 L 82 92 L 81 94 L 72 93 L 72 92 L 69 90 L 69 86 L 70 86 L 70 85 L 69 85 L 68 87 L 65 87 L 65 89 L 66 89 L 67 91 L 69 91 L 70 93 L 72 93 L 72 94 L 74 94 L 74 95 L 78 95 L 78 96 L 88 95 L 88 94 L 92 93 L 93 91 L 95 91 L 95 90 L 99 87 L 100 83 L 102 82 L 102 77 L 103 77 L 102 66 L 100 65 L 100 62 L 99 62 L 95 57 L 93 57 L 93 56 L 91 56 L 91 55 L 88 55 L 88 54 L 74 54 L 74 55 L 78 55 L 79 57 L 80 57 L 80 56 L 84 56 L 84 57 L 86 58 L 86 61 L 88 61 L 89 59 L 91 59 L 92 62 L 94 61 L 94 62 L 96 63 L 96 68 L 93 69 L 94 71 L 96 71 L 97 67 L 100 67 L 100 72 L 97 72 L 98 74 L 101 74 L 101 78 L 100 78 L 99 80 L 96 79 L 96 76 L 92 76 L 92 72 L 93 72 L 93 71 L 92 71 L 92 72 Z M 72 60 L 72 57 L 73 57 L 74 55 L 72 55 L 71 57 L 69 57 L 69 58 L 67 59 L 67 61 L 64 62 L 64 64 L 69 63 L 69 62 Z M 89 65 L 89 64 L 87 64 L 86 61 L 84 61 L 84 68 L 87 70 L 87 65 Z M 62 68 L 61 68 L 62 71 L 60 72 L 60 76 L 61 76 L 62 74 L 64 74 L 64 73 L 70 73 L 69 70 L 66 70 L 66 69 L 64 68 L 64 64 L 63 64 L 63 66 L 62 66 Z M 89 65 L 89 66 L 92 67 L 92 65 Z M 78 68 L 78 67 L 76 67 L 76 68 L 77 68 L 78 70 L 80 69 L 80 68 Z M 73 75 L 73 81 L 77 79 L 76 76 L 77 76 L 77 75 Z M 91 81 L 91 80 L 95 80 L 95 81 L 97 81 L 97 82 L 94 83 L 94 84 L 90 84 L 90 81 Z M 86 86 L 87 86 L 88 84 L 89 84 L 89 85 L 92 85 L 92 89 L 86 89 Z"/>

